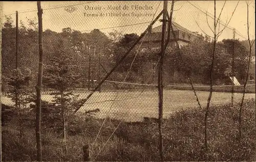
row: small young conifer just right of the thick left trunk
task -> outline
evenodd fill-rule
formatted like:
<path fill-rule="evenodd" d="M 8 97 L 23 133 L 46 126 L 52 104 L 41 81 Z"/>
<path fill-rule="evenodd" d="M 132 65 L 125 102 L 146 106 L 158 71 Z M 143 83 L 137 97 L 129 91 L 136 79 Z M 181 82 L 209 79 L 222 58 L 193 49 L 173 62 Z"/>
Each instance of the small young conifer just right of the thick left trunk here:
<path fill-rule="evenodd" d="M 66 114 L 70 110 L 70 102 L 72 92 L 70 90 L 77 83 L 78 75 L 72 73 L 70 57 L 59 51 L 59 57 L 54 57 L 50 60 L 51 64 L 45 68 L 45 76 L 43 79 L 44 85 L 58 91 L 54 97 L 54 103 L 60 104 L 61 122 L 63 126 L 63 142 L 67 152 L 66 144 Z M 59 96 L 60 95 L 60 96 Z"/>

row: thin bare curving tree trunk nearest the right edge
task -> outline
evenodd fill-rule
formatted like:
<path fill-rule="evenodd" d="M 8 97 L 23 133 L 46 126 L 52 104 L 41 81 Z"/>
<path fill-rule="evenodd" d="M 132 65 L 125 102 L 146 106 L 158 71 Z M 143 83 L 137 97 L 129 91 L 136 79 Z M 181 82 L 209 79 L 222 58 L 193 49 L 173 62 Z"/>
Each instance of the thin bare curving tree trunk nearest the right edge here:
<path fill-rule="evenodd" d="M 254 43 L 255 40 L 253 40 L 252 42 L 250 41 L 250 36 L 249 36 L 249 4 L 246 1 L 246 5 L 247 5 L 247 36 L 248 36 L 248 43 L 249 43 L 249 60 L 248 60 L 248 66 L 247 66 L 247 74 L 246 74 L 246 78 L 245 78 L 245 83 L 244 83 L 244 87 L 243 87 L 243 96 L 242 96 L 242 101 L 240 103 L 240 109 L 239 109 L 239 136 L 240 138 L 242 138 L 242 109 L 243 109 L 243 104 L 244 104 L 244 96 L 245 96 L 245 89 L 246 89 L 246 84 L 248 81 L 248 77 L 249 77 L 249 69 L 250 69 L 250 62 L 251 62 L 251 48 L 252 48 L 252 44 Z"/>

